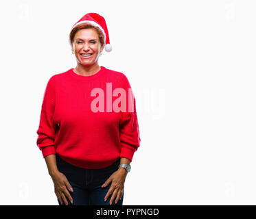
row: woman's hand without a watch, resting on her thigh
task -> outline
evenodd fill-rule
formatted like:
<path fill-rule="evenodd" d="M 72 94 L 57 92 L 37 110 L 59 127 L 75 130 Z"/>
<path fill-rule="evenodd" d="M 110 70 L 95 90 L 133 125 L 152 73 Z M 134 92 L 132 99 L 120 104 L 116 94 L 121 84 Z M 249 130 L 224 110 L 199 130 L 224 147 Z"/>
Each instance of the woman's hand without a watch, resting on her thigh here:
<path fill-rule="evenodd" d="M 54 173 L 54 175 L 51 175 L 51 179 L 54 181 L 54 192 L 60 201 L 60 204 L 62 205 L 64 201 L 65 205 L 68 205 L 67 198 L 69 198 L 69 201 L 73 204 L 73 198 L 69 193 L 69 191 L 73 192 L 73 188 L 69 184 L 67 177 L 62 172 L 58 171 Z"/>

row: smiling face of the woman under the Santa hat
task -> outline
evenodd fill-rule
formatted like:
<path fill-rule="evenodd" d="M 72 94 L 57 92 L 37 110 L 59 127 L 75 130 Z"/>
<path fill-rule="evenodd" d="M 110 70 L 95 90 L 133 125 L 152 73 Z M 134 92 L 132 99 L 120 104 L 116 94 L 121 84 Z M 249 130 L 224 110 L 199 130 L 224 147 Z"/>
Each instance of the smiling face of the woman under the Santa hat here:
<path fill-rule="evenodd" d="M 103 47 L 94 29 L 80 29 L 73 38 L 72 50 L 78 64 L 92 66 L 97 64 Z"/>

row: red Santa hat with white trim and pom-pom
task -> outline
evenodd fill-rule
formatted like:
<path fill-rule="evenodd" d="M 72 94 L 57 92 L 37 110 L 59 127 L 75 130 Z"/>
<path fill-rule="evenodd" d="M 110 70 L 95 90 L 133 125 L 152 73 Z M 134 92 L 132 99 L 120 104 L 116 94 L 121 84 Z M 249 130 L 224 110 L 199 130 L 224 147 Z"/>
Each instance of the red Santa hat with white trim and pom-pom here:
<path fill-rule="evenodd" d="M 77 25 L 80 25 L 81 23 L 90 23 L 91 25 L 95 27 L 99 27 L 104 35 L 104 48 L 105 51 L 110 52 L 112 51 L 112 46 L 109 42 L 109 36 L 108 36 L 108 28 L 106 27 L 106 21 L 103 16 L 100 16 L 100 14 L 97 13 L 87 13 L 82 18 L 73 25 L 71 30 L 76 27 Z M 69 43 L 72 44 L 69 40 Z"/>

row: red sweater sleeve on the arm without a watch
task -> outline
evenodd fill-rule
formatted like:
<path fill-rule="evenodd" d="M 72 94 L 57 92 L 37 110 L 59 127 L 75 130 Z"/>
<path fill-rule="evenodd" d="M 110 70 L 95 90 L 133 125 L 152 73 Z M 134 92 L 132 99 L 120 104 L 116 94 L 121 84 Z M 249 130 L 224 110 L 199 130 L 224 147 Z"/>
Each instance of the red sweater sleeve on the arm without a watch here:
<path fill-rule="evenodd" d="M 45 93 L 43 96 L 43 103 L 40 113 L 40 123 L 36 133 L 38 138 L 36 144 L 40 151 L 43 153 L 43 157 L 56 154 L 55 151 L 55 129 L 52 118 L 54 116 L 55 108 L 55 91 L 54 80 L 51 77 L 47 83 Z"/>

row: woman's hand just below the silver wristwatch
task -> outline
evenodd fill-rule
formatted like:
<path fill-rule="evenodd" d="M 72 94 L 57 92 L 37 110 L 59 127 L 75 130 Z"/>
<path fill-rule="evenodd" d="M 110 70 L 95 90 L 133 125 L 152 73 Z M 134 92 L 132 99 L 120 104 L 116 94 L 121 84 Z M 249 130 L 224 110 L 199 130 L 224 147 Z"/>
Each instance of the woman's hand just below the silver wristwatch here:
<path fill-rule="evenodd" d="M 112 194 L 109 202 L 110 205 L 112 205 L 114 199 L 115 203 L 117 203 L 121 199 L 124 193 L 124 182 L 126 181 L 126 175 L 127 171 L 121 167 L 117 171 L 113 172 L 112 175 L 110 175 L 110 177 L 102 185 L 102 188 L 104 188 L 108 186 L 108 184 L 111 182 L 111 187 L 108 190 L 104 201 L 108 199 L 108 196 L 110 196 L 110 194 Z"/>

